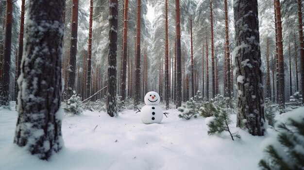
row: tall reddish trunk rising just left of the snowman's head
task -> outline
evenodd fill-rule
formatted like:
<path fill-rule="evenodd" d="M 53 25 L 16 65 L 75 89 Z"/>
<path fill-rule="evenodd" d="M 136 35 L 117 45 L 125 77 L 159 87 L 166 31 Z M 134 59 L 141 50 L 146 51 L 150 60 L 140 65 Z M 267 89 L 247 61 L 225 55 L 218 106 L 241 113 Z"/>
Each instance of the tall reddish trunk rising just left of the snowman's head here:
<path fill-rule="evenodd" d="M 137 15 L 136 15 L 136 66 L 135 66 L 135 95 L 134 105 L 139 104 L 140 98 L 140 22 L 141 22 L 141 0 L 137 0 Z"/>

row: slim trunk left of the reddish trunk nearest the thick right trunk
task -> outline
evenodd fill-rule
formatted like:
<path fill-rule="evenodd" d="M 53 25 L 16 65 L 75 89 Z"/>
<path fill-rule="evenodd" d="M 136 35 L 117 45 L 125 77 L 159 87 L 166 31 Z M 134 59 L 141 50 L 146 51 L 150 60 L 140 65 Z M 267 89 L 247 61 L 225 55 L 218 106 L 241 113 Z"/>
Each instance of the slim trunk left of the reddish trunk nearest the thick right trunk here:
<path fill-rule="evenodd" d="M 213 38 L 213 11 L 212 0 L 210 0 L 210 20 L 211 20 L 211 69 L 212 69 L 212 98 L 215 97 L 215 67 L 214 67 L 214 38 Z"/>

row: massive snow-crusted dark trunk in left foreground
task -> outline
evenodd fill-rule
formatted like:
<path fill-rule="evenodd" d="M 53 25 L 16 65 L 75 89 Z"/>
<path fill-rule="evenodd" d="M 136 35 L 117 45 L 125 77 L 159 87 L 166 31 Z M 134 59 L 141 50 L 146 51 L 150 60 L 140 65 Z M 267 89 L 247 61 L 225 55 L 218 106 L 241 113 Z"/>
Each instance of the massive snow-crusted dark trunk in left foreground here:
<path fill-rule="evenodd" d="M 31 0 L 14 143 L 48 160 L 63 147 L 60 108 L 64 0 Z M 39 29 L 38 29 L 39 28 Z"/>

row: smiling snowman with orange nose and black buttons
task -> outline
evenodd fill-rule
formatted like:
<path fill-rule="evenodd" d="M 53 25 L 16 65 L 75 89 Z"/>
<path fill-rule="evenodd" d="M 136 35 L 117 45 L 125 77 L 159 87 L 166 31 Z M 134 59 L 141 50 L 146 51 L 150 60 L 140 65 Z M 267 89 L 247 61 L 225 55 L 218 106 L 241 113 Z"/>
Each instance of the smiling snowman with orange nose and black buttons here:
<path fill-rule="evenodd" d="M 144 124 L 160 124 L 163 120 L 163 114 L 167 117 L 166 114 L 168 113 L 163 113 L 162 108 L 158 105 L 159 102 L 160 97 L 158 93 L 148 92 L 145 95 L 146 106 L 142 107 L 140 110 L 140 118 Z"/>

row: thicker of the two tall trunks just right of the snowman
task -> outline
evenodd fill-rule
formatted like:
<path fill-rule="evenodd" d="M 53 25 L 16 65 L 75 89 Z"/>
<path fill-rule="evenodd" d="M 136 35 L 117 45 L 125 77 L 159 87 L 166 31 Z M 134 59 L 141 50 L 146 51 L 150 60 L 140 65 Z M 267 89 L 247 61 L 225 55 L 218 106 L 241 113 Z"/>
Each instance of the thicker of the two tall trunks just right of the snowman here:
<path fill-rule="evenodd" d="M 176 41 L 176 108 L 182 106 L 182 54 L 180 0 L 175 0 L 175 41 Z"/>

